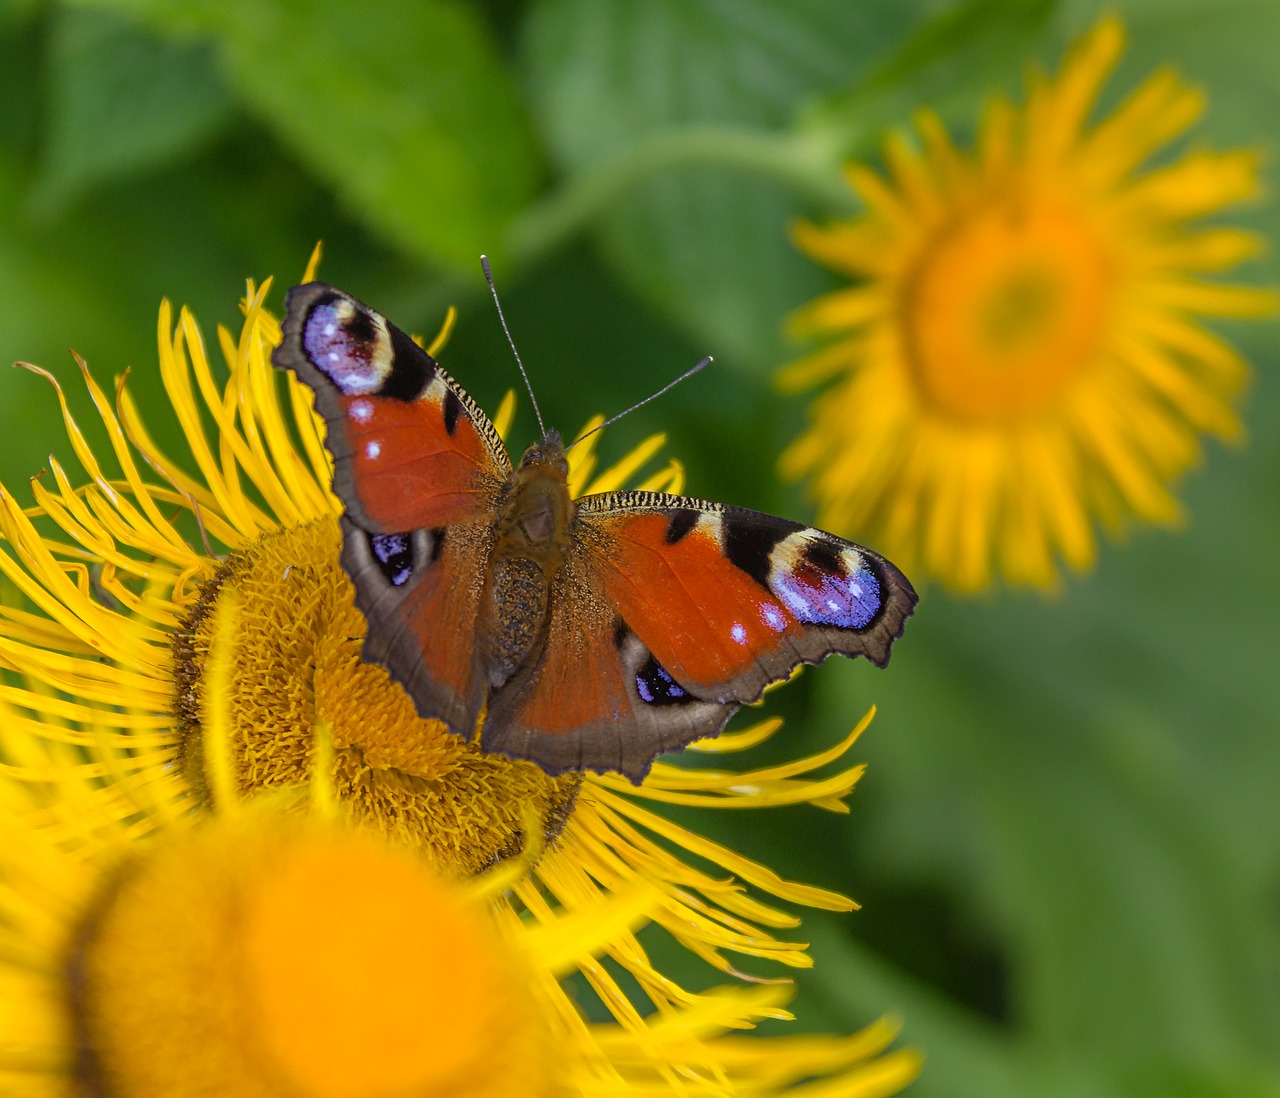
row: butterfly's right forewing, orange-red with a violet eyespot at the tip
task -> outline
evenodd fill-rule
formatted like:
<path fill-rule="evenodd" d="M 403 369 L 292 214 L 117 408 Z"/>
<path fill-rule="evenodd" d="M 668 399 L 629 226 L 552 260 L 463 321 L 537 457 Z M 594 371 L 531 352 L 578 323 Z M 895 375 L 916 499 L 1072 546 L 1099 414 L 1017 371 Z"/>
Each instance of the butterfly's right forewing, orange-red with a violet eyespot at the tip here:
<path fill-rule="evenodd" d="M 603 534 L 604 589 L 684 688 L 754 701 L 832 653 L 883 665 L 915 607 L 882 557 L 820 530 L 707 500 L 618 493 L 579 500 Z"/>

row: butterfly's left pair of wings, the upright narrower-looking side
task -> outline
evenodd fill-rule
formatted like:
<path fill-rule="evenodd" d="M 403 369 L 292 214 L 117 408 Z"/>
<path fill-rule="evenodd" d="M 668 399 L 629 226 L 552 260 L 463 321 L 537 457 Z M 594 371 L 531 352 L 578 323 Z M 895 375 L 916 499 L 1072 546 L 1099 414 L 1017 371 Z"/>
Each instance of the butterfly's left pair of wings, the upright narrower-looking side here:
<path fill-rule="evenodd" d="M 369 623 L 364 656 L 424 717 L 470 735 L 483 705 L 475 619 L 511 459 L 439 363 L 324 283 L 289 290 L 271 356 L 308 385 L 342 500 L 342 563 Z"/>

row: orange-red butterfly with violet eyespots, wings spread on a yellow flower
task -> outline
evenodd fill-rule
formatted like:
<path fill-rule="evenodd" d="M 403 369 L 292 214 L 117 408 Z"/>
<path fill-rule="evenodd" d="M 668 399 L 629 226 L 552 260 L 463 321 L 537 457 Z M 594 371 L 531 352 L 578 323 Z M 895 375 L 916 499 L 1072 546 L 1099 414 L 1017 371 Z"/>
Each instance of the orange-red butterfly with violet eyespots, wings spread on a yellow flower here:
<path fill-rule="evenodd" d="M 617 770 L 724 728 L 832 653 L 883 667 L 915 608 L 888 561 L 797 522 L 655 491 L 571 499 L 556 431 L 512 466 L 466 390 L 324 283 L 289 290 L 273 362 L 315 393 L 342 564 L 424 718 L 552 774 Z"/>

